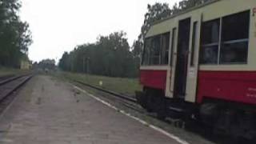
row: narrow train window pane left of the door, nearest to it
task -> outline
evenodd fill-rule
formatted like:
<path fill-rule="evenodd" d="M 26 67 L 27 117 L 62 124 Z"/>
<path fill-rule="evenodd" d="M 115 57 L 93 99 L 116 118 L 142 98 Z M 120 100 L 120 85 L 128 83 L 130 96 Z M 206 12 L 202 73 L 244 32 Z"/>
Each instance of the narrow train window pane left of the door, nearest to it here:
<path fill-rule="evenodd" d="M 162 47 L 161 64 L 168 65 L 169 50 L 170 50 L 170 33 L 162 34 L 161 47 Z"/>

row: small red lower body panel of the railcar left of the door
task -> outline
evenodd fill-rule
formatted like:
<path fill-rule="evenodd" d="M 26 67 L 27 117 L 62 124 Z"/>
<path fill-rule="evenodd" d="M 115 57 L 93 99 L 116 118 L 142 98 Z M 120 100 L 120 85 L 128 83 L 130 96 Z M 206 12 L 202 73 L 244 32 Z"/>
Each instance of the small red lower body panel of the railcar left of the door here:
<path fill-rule="evenodd" d="M 141 70 L 140 82 L 143 86 L 166 90 L 167 70 Z"/>

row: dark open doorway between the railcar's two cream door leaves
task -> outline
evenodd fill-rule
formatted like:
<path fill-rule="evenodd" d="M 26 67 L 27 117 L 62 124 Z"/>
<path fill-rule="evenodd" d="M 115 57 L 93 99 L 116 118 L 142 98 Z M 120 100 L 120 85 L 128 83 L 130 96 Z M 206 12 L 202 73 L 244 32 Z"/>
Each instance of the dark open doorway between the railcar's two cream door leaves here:
<path fill-rule="evenodd" d="M 186 96 L 186 77 L 190 47 L 190 18 L 178 22 L 178 46 L 174 67 L 174 98 Z"/>

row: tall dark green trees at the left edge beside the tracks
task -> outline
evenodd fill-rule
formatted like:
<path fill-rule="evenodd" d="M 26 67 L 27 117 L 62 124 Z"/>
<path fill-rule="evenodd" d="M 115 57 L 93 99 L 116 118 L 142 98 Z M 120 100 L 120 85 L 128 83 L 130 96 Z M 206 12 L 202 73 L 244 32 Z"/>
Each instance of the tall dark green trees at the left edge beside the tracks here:
<path fill-rule="evenodd" d="M 28 60 L 32 38 L 28 23 L 18 15 L 21 6 L 19 0 L 0 0 L 0 66 L 18 67 Z"/>

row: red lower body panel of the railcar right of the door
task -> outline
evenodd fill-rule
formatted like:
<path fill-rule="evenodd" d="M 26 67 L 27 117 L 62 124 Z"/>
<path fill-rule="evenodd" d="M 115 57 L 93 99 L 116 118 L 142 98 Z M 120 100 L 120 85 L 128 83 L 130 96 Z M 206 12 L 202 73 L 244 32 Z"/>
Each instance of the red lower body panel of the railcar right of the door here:
<path fill-rule="evenodd" d="M 256 104 L 256 71 L 199 71 L 198 98 Z"/>

